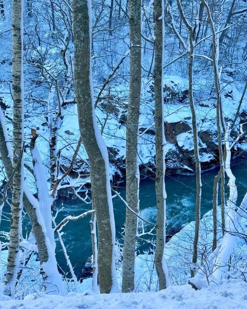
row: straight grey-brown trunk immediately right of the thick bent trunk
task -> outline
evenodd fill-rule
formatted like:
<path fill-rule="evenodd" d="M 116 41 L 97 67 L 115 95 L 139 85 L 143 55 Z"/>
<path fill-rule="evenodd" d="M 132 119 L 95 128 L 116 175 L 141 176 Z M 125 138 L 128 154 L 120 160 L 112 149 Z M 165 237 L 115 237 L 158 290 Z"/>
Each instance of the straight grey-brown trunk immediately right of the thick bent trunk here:
<path fill-rule="evenodd" d="M 129 0 L 130 80 L 126 120 L 126 202 L 139 212 L 138 126 L 141 90 L 141 1 Z M 137 216 L 126 208 L 122 292 L 135 288 Z"/>

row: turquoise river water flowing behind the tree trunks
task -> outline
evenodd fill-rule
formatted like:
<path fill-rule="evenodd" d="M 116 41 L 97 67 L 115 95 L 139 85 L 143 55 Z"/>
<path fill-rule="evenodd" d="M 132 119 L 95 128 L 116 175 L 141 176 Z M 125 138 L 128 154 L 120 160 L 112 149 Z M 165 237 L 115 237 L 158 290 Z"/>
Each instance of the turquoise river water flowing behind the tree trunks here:
<path fill-rule="evenodd" d="M 217 174 L 217 169 L 202 173 L 202 195 L 201 195 L 201 215 L 212 209 L 213 181 Z M 241 201 L 247 191 L 247 162 L 237 163 L 232 166 L 232 171 L 236 176 L 238 186 L 238 202 Z M 195 215 L 196 183 L 194 176 L 171 175 L 166 177 L 167 191 L 167 234 L 174 232 L 182 225 L 193 221 Z M 118 192 L 125 197 L 123 187 L 118 188 Z M 58 201 L 57 207 L 63 203 L 63 210 L 60 212 L 57 222 L 68 214 L 78 215 L 91 208 L 91 205 L 83 204 L 78 200 Z M 116 237 L 123 238 L 121 232 L 124 228 L 125 206 L 118 198 L 113 198 L 114 216 L 116 222 Z M 153 179 L 140 181 L 140 215 L 147 221 L 155 224 L 156 199 L 155 183 Z M 87 258 L 92 255 L 90 217 L 82 218 L 77 222 L 69 222 L 62 231 L 63 240 L 67 246 L 72 265 L 75 266 L 75 273 L 79 277 Z M 149 227 L 145 228 L 146 230 Z M 154 237 L 154 236 L 150 236 Z M 140 242 L 142 244 L 143 242 Z M 139 251 L 146 249 L 139 247 Z M 66 270 L 60 245 L 57 245 L 57 258 L 62 269 Z"/>

